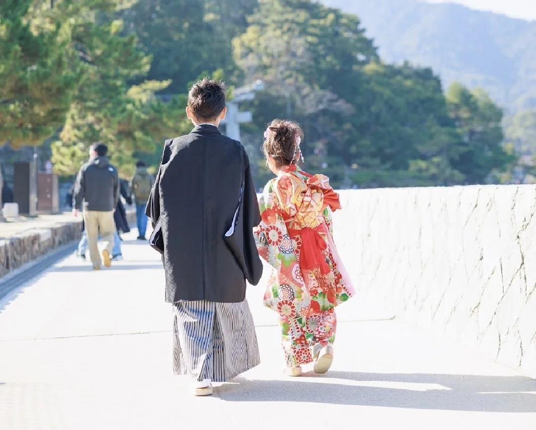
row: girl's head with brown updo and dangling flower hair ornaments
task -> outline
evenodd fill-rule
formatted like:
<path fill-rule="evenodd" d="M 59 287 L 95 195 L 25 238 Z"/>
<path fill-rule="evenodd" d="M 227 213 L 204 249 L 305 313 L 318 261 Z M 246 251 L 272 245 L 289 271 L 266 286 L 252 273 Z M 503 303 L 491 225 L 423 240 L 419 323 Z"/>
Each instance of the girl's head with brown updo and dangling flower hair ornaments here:
<path fill-rule="evenodd" d="M 295 164 L 302 156 L 301 139 L 303 139 L 303 131 L 300 124 L 293 121 L 273 120 L 264 134 L 264 157 L 272 157 L 278 169 Z"/>

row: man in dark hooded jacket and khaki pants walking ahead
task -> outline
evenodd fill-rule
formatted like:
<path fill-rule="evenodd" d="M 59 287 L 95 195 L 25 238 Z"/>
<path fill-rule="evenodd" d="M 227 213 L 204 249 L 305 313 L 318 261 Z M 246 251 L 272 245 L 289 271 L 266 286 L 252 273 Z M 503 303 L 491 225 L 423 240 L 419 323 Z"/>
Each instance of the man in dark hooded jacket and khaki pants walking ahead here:
<path fill-rule="evenodd" d="M 108 147 L 95 143 L 90 149 L 90 161 L 80 168 L 73 193 L 73 213 L 83 207 L 85 232 L 87 234 L 93 269 L 111 266 L 116 233 L 114 211 L 119 199 L 117 169 L 108 161 Z M 99 232 L 105 241 L 102 260 L 99 255 Z"/>

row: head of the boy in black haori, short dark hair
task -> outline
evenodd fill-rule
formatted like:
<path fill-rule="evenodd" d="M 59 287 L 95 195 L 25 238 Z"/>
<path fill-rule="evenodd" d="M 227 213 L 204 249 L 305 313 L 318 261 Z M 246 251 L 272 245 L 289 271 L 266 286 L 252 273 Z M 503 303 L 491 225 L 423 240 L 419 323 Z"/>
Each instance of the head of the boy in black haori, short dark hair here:
<path fill-rule="evenodd" d="M 225 84 L 204 78 L 193 84 L 188 93 L 188 106 L 200 120 L 214 120 L 225 108 Z"/>

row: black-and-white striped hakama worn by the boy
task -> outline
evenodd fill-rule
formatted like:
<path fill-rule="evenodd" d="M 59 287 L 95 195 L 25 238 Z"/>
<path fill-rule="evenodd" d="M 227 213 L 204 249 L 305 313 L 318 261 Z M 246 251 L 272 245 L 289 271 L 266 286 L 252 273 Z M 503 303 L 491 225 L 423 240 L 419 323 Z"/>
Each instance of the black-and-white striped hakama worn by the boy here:
<path fill-rule="evenodd" d="M 247 300 L 173 304 L 173 371 L 226 382 L 257 366 L 260 354 Z"/>

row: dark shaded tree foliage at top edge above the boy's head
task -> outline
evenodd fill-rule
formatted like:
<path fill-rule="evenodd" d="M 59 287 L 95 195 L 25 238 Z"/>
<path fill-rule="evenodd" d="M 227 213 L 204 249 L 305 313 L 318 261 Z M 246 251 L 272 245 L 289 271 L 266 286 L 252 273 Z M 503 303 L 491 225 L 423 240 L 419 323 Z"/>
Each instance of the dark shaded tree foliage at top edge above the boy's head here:
<path fill-rule="evenodd" d="M 172 83 L 166 92 L 182 94 L 201 73 L 224 70 L 240 77 L 232 39 L 245 28 L 257 0 L 139 0 L 121 13 L 126 30 L 136 34 L 153 56 L 148 79 Z"/>

